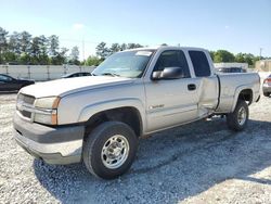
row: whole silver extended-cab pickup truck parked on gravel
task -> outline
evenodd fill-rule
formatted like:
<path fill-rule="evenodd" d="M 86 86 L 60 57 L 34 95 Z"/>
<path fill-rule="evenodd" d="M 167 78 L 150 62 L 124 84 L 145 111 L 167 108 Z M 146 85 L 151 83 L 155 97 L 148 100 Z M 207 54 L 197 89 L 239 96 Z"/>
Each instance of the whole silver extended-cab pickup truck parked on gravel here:
<path fill-rule="evenodd" d="M 260 97 L 258 74 L 215 74 L 207 50 L 159 47 L 107 58 L 93 76 L 23 88 L 14 138 L 49 164 L 83 161 L 104 179 L 126 173 L 138 138 L 212 115 L 243 130 Z"/>

